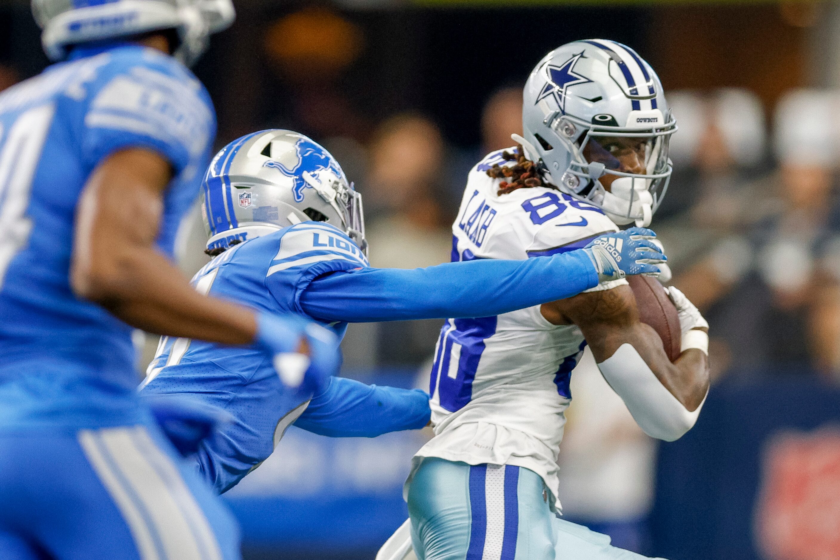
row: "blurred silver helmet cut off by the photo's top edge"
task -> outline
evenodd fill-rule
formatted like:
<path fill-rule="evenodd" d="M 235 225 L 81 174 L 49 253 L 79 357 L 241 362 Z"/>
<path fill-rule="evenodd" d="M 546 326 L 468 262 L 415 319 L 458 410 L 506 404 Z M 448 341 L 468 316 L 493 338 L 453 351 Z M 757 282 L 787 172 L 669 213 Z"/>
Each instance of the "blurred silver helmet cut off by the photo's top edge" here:
<path fill-rule="evenodd" d="M 210 34 L 234 23 L 231 0 L 32 0 L 50 60 L 63 60 L 73 44 L 117 39 L 157 29 L 176 29 L 176 57 L 192 65 Z"/>

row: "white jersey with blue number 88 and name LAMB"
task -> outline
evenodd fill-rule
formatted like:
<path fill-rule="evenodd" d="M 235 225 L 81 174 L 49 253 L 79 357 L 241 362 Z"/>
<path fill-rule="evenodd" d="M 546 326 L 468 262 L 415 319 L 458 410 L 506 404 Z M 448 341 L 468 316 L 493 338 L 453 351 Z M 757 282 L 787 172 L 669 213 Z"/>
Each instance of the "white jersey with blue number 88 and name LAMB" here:
<path fill-rule="evenodd" d="M 553 189 L 498 195 L 502 180 L 486 170 L 506 164 L 501 152 L 470 170 L 452 226 L 452 260 L 563 253 L 617 231 L 597 207 Z M 528 285 L 511 289 L 528 290 Z M 557 454 L 571 400 L 570 374 L 584 346 L 578 327 L 552 325 L 540 306 L 497 317 L 449 319 L 438 338 L 429 389 L 436 435 L 417 452 L 415 468 L 422 457 L 530 468 L 543 478 L 559 510 Z"/>

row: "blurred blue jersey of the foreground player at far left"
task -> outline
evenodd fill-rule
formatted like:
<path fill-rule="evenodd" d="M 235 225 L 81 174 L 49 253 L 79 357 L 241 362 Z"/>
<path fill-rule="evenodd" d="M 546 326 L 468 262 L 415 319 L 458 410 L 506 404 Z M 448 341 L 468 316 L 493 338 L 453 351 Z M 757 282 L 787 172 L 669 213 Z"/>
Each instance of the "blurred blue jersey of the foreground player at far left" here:
<path fill-rule="evenodd" d="M 76 205 L 109 154 L 154 150 L 175 173 L 157 240 L 171 254 L 215 128 L 192 73 L 134 44 L 76 48 L 0 94 L 0 429 L 137 417 L 131 329 L 71 291 Z"/>

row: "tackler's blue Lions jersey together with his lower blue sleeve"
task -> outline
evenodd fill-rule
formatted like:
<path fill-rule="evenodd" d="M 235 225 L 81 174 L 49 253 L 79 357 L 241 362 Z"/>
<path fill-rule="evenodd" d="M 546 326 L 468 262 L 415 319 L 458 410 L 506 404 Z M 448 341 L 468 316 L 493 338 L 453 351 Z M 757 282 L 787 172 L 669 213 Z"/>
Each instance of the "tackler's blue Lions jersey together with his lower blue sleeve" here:
<path fill-rule="evenodd" d="M 366 269 L 365 255 L 338 228 L 303 222 L 218 255 L 192 280 L 196 290 L 260 311 L 305 315 L 301 296 L 332 272 Z M 317 320 L 317 319 L 316 319 Z M 346 322 L 320 322 L 344 335 Z M 292 423 L 328 436 L 372 437 L 426 425 L 422 390 L 332 378 L 318 395 L 285 390 L 265 352 L 187 338 L 161 338 L 144 394 L 193 395 L 234 420 L 197 453 L 206 479 L 223 492 L 268 458 Z"/>

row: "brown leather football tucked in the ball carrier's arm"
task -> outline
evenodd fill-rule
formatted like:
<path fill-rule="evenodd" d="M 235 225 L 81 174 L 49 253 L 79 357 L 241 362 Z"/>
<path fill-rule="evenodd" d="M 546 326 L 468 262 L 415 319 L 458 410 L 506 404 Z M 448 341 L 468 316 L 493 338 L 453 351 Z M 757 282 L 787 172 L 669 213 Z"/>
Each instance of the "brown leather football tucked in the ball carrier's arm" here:
<path fill-rule="evenodd" d="M 665 353 L 673 362 L 680 357 L 680 344 L 682 333 L 680 332 L 680 317 L 677 315 L 677 308 L 668 297 L 659 280 L 652 276 L 629 276 L 627 281 L 636 296 L 639 318 L 643 323 L 654 327 L 654 331 L 662 339 L 662 346 Z"/>

